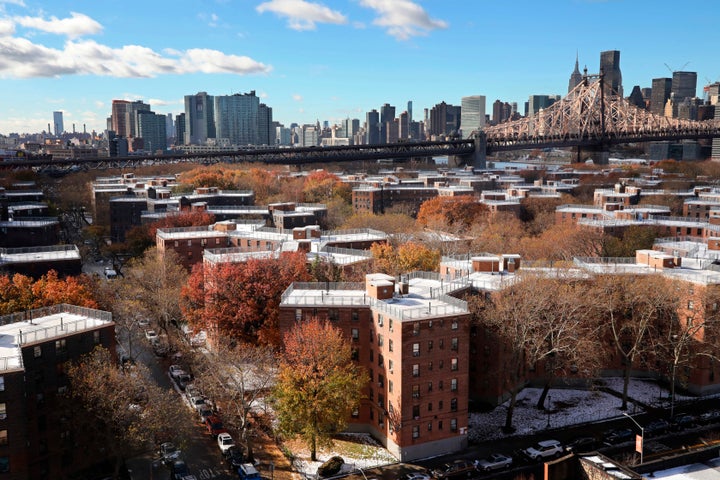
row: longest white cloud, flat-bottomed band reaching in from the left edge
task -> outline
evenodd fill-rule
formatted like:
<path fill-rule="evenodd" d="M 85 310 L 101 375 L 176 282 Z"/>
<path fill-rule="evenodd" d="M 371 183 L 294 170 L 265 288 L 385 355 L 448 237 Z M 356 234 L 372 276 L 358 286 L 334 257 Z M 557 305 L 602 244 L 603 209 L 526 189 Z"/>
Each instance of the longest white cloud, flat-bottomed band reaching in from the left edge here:
<path fill-rule="evenodd" d="M 32 62 L 27 59 L 32 58 Z M 271 66 L 250 57 L 217 50 L 166 50 L 164 55 L 139 45 L 111 48 L 92 40 L 68 41 L 62 50 L 26 38 L 0 37 L 0 77 L 33 78 L 62 75 L 155 77 L 163 74 L 268 73 Z"/>

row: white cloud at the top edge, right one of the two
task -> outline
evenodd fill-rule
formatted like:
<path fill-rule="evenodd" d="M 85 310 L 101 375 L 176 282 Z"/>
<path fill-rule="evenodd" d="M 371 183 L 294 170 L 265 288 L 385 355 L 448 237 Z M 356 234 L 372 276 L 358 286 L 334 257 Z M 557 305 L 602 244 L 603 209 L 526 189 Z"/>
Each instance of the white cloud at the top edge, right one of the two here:
<path fill-rule="evenodd" d="M 430 18 L 427 12 L 411 0 L 360 0 L 363 7 L 375 10 L 378 17 L 373 24 L 387 29 L 398 40 L 427 35 L 432 30 L 447 28 L 444 20 Z"/>

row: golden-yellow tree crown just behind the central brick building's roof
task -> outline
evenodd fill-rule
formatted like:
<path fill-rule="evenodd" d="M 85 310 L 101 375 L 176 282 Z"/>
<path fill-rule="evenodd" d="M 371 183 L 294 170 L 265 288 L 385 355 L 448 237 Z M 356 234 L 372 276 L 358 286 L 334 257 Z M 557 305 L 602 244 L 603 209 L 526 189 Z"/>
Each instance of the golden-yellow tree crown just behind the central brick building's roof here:
<path fill-rule="evenodd" d="M 435 272 L 440 267 L 440 252 L 425 245 L 407 242 L 399 247 L 374 243 L 370 247 L 375 270 L 388 275 L 400 275 L 413 271 Z"/>

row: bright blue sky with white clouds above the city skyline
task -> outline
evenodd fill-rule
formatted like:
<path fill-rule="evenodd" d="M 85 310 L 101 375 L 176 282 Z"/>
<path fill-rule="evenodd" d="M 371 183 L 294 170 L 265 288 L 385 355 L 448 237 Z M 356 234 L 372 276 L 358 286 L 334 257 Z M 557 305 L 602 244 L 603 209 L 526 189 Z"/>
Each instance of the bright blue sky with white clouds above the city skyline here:
<path fill-rule="evenodd" d="M 0 133 L 105 129 L 113 99 L 182 112 L 199 91 L 255 90 L 275 120 L 413 116 L 466 95 L 565 94 L 575 54 L 620 50 L 633 85 L 720 80 L 716 0 L 0 0 Z M 667 64 L 667 66 L 666 66 Z M 490 113 L 490 112 L 488 112 Z"/>

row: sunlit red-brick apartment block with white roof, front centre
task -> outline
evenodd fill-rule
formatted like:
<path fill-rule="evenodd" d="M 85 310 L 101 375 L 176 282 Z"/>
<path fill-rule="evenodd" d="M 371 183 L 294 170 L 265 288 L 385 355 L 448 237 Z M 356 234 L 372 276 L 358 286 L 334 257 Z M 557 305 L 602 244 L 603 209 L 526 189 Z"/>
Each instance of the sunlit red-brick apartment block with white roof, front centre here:
<path fill-rule="evenodd" d="M 451 453 L 467 445 L 470 330 L 467 304 L 446 292 L 463 286 L 427 273 L 296 283 L 279 326 L 317 317 L 343 331 L 370 374 L 349 430 L 372 434 L 402 461 Z"/>

